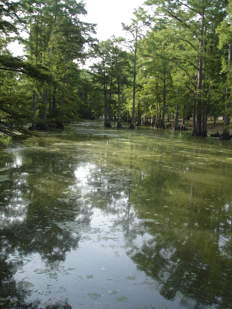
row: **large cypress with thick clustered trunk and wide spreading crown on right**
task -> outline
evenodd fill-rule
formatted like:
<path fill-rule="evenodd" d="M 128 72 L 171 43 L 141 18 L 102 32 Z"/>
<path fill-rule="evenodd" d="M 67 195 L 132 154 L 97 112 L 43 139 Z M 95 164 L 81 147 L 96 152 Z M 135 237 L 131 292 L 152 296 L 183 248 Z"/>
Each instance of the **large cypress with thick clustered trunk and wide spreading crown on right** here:
<path fill-rule="evenodd" d="M 205 72 L 207 70 L 207 44 L 212 29 L 223 20 L 226 3 L 223 0 L 148 0 L 145 2 L 153 6 L 158 15 L 172 18 L 177 26 L 182 27 L 194 38 L 191 43 L 197 61 L 197 87 L 195 91 L 196 104 L 193 105 L 193 136 L 207 136 L 207 100 L 204 99 Z M 196 49 L 197 47 L 197 49 Z M 208 55 L 207 55 L 208 56 Z M 194 61 L 194 58 L 190 59 Z"/>

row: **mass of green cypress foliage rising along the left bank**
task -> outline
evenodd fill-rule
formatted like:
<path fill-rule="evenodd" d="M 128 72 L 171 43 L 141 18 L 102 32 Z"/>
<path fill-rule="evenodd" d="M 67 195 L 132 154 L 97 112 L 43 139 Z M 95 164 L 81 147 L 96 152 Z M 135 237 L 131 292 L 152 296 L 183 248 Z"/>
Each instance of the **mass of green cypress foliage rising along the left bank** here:
<path fill-rule="evenodd" d="M 2 93 L 6 94 L 1 98 L 2 134 L 15 139 L 13 132 L 18 130 L 21 137 L 31 136 L 32 133 L 23 129 L 25 123 L 32 122 L 32 129 L 36 128 L 36 122 L 46 127 L 47 115 L 59 124 L 79 119 L 79 106 L 83 101 L 79 97 L 77 63 L 84 63 L 86 49 L 95 43 L 91 36 L 95 25 L 80 21 L 79 15 L 85 14 L 84 3 L 73 0 L 0 2 L 0 43 L 4 47 L 0 53 L 0 70 L 15 78 L 15 89 L 11 89 L 6 83 L 8 77 L 2 74 Z M 13 57 L 6 50 L 8 32 L 15 32 L 14 39 L 24 45 L 24 57 Z M 7 95 L 9 100 L 15 100 L 12 109 L 9 109 Z M 19 110 L 23 95 L 29 100 Z M 5 115 L 7 112 L 12 121 Z"/>

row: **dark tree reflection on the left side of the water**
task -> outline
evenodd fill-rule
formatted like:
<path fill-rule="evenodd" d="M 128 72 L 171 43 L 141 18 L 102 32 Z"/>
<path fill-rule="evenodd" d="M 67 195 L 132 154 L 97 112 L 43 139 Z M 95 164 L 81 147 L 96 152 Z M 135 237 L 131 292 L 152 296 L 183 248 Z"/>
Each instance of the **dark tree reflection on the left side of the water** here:
<path fill-rule="evenodd" d="M 16 283 L 14 274 L 34 253 L 39 253 L 50 269 L 54 263 L 65 260 L 66 253 L 78 247 L 79 236 L 75 231 L 70 233 L 69 227 L 60 228 L 59 222 L 74 221 L 78 214 L 90 216 L 88 210 L 81 210 L 76 203 L 78 193 L 69 194 L 67 201 L 65 182 L 58 189 L 58 183 L 49 181 L 50 169 L 57 169 L 54 161 L 50 158 L 45 160 L 35 151 L 32 158 L 31 166 L 25 167 L 20 166 L 17 156 L 17 164 L 11 163 L 11 178 L 1 187 L 4 194 L 0 195 L 0 291 L 1 305 L 5 309 L 40 308 L 39 300 L 26 301 L 31 294 L 30 283 L 26 280 Z M 34 177 L 38 176 L 38 166 L 41 173 L 39 178 Z M 42 184 L 46 181 L 49 186 Z M 45 196 L 52 196 L 52 199 Z M 46 309 L 49 308 L 71 309 L 71 306 L 66 302 L 46 306 Z"/>

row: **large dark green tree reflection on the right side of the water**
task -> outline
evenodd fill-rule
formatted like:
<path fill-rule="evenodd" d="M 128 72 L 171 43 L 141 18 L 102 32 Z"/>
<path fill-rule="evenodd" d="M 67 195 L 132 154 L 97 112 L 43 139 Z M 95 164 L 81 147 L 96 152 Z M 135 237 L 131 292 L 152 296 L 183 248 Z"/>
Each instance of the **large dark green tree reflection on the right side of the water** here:
<path fill-rule="evenodd" d="M 130 160 L 133 170 L 132 162 L 133 144 Z M 185 183 L 184 192 L 179 193 L 183 197 L 190 192 L 190 205 L 186 210 L 181 205 L 183 202 L 176 203 L 180 197 L 174 199 L 169 194 L 176 191 L 176 183 L 169 180 L 170 175 L 160 167 L 151 172 L 151 177 L 144 177 L 141 172 L 137 183 L 129 181 L 128 187 L 125 185 L 128 195 L 119 197 L 118 207 L 112 197 L 108 208 L 119 214 L 115 225 L 123 226 L 127 253 L 141 271 L 159 282 L 160 294 L 166 299 L 179 295 L 183 306 L 226 308 L 230 306 L 228 299 L 232 304 L 232 291 L 228 290 L 232 277 L 232 205 L 223 206 L 226 201 L 222 201 L 219 187 L 211 188 L 212 192 L 216 191 L 214 205 L 208 200 L 201 208 L 196 203 L 199 186 L 191 178 L 190 186 Z M 207 194 L 207 190 L 201 192 L 204 201 Z M 152 197 L 152 205 L 149 197 Z M 144 213 L 147 217 L 141 218 Z"/>

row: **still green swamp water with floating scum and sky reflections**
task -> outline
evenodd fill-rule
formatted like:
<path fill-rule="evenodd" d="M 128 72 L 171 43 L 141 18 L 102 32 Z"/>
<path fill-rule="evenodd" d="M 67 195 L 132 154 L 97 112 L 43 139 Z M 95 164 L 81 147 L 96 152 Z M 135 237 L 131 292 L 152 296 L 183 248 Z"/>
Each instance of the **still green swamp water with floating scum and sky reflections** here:
<path fill-rule="evenodd" d="M 2 146 L 0 307 L 232 308 L 231 142 L 102 125 Z"/>

